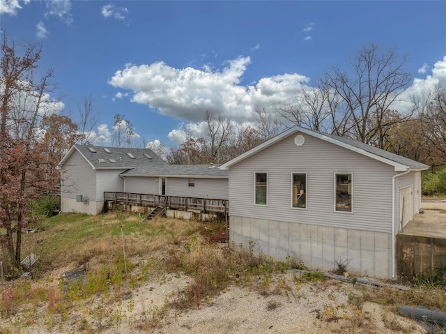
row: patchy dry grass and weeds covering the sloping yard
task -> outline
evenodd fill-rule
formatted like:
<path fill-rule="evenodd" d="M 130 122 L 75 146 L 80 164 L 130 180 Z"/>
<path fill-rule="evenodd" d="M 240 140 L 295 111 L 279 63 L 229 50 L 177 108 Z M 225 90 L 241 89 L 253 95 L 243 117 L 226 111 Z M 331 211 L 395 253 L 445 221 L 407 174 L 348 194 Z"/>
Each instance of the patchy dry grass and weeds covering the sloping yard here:
<path fill-rule="evenodd" d="M 137 330 L 150 333 L 153 328 L 162 326 L 163 321 L 172 321 L 171 317 L 176 318 L 180 312 L 210 303 L 213 296 L 231 284 L 248 287 L 263 296 L 261 298 L 268 298 L 263 304 L 268 312 L 284 307 L 285 303 L 277 299 L 279 296 L 285 296 L 287 303 L 305 303 L 307 296 L 300 292 L 303 285 L 309 285 L 310 291 L 341 289 L 339 282 L 324 280 L 317 271 L 296 274 L 287 281 L 280 273 L 296 266 L 297 260 L 275 262 L 257 254 L 254 245 L 243 249 L 222 243 L 225 237 L 226 228 L 217 224 L 165 218 L 143 222 L 137 215 L 123 213 L 95 217 L 60 215 L 46 222 L 36 234 L 39 242 L 31 251 L 39 254 L 40 260 L 37 271 L 33 272 L 34 279 L 9 282 L 3 288 L 0 319 L 10 319 L 17 312 L 41 305 L 49 319 L 48 331 L 57 332 L 56 324 L 66 323 L 71 314 L 82 310 L 84 315 L 77 321 L 77 330 L 95 333 L 98 328 L 122 323 L 125 312 L 116 305 L 132 298 L 142 282 L 149 278 L 161 282 L 169 273 L 187 276 L 190 283 L 169 303 L 166 301 L 157 308 L 139 298 L 142 307 L 134 322 Z M 59 281 L 63 273 L 60 268 L 67 270 L 67 264 L 72 269 L 84 268 L 85 277 L 74 282 Z M 128 273 L 125 273 L 125 264 Z M 49 271 L 55 271 L 54 275 L 47 275 Z M 319 315 L 317 319 L 330 324 L 342 319 L 344 322 L 338 333 L 373 333 L 376 324 L 364 307 L 368 303 L 388 308 L 382 321 L 385 328 L 395 332 L 408 329 L 397 321 L 395 305 L 422 305 L 446 312 L 444 289 L 424 286 L 409 291 L 355 286 L 348 294 L 346 305 L 327 304 L 315 312 Z M 31 319 L 33 314 L 29 317 Z M 99 327 L 92 326 L 91 321 Z M 1 326 L 0 333 L 3 333 Z"/>

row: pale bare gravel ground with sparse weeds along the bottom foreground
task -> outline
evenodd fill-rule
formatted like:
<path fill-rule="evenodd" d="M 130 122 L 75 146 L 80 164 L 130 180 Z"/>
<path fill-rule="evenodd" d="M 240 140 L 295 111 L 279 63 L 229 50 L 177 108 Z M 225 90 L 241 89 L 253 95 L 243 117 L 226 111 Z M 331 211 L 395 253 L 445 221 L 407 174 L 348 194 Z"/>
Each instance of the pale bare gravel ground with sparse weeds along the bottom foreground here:
<path fill-rule="evenodd" d="M 236 282 L 220 295 L 206 298 L 198 309 L 181 312 L 167 303 L 191 280 L 167 275 L 121 291 L 121 301 L 107 303 L 95 297 L 66 315 L 49 312 L 47 303 L 40 303 L 15 314 L 3 328 L 30 334 L 425 333 L 389 306 L 366 302 L 359 310 L 354 301 L 362 287 L 337 280 L 302 282 L 295 280 L 296 275 L 295 271 L 274 275 L 268 289 L 259 289 L 265 287 L 263 277 L 254 276 L 251 282 Z"/>

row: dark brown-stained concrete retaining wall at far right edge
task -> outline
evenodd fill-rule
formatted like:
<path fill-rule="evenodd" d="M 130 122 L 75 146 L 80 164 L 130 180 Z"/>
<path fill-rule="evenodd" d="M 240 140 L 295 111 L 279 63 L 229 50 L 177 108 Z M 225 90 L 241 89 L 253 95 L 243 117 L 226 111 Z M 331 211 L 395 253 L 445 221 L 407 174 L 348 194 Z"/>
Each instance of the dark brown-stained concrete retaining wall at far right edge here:
<path fill-rule="evenodd" d="M 403 281 L 412 281 L 418 274 L 431 275 L 446 266 L 446 238 L 397 235 L 397 273 Z"/>

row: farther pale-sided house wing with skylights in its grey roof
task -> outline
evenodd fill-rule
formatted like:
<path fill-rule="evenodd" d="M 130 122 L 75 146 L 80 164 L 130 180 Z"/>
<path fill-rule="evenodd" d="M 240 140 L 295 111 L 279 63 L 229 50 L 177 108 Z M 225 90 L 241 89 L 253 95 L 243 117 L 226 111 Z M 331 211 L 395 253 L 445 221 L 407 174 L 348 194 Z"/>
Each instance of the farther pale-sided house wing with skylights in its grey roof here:
<path fill-rule="evenodd" d="M 169 165 L 150 149 L 75 144 L 58 168 L 62 212 L 101 213 L 104 192 L 228 199 L 227 171 Z"/>

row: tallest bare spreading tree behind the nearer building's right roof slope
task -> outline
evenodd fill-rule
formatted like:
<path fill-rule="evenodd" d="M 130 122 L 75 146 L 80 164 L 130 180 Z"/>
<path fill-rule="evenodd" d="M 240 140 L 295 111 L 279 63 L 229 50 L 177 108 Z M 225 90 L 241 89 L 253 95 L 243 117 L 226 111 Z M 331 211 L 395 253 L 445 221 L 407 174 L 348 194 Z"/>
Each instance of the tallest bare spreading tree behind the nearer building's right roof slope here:
<path fill-rule="evenodd" d="M 350 137 L 369 144 L 380 128 L 390 126 L 385 113 L 412 80 L 406 63 L 406 57 L 398 56 L 395 50 L 378 54 L 378 47 L 371 45 L 350 61 L 351 75 L 338 67 L 325 72 L 321 86 L 335 93 L 332 112 L 341 111 Z M 339 128 L 339 123 L 334 128 Z"/>

